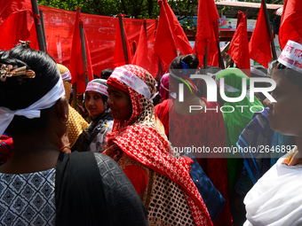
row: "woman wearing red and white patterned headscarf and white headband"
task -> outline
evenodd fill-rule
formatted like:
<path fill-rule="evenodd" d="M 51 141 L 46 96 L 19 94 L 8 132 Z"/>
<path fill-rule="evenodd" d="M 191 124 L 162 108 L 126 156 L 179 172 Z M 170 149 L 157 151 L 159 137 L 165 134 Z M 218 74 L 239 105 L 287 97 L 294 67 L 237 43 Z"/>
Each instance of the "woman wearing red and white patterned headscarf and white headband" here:
<path fill-rule="evenodd" d="M 155 79 L 139 66 L 120 66 L 107 80 L 115 119 L 104 152 L 129 177 L 147 208 L 149 225 L 212 225 L 189 174 L 155 120 Z"/>

